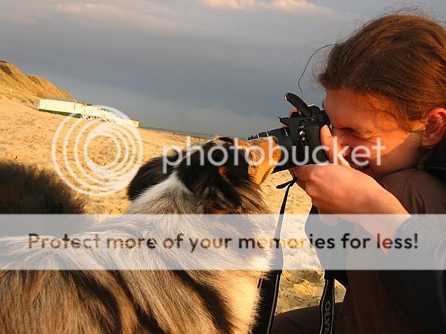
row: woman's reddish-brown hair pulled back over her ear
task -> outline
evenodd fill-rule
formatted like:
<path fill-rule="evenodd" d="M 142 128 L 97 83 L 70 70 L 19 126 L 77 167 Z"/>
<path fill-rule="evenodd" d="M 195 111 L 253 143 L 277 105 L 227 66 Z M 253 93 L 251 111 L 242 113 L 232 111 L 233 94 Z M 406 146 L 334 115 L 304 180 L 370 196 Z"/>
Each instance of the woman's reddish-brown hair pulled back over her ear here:
<path fill-rule="evenodd" d="M 325 89 L 386 97 L 408 131 L 428 111 L 446 107 L 446 30 L 418 15 L 386 15 L 332 47 L 318 75 Z"/>

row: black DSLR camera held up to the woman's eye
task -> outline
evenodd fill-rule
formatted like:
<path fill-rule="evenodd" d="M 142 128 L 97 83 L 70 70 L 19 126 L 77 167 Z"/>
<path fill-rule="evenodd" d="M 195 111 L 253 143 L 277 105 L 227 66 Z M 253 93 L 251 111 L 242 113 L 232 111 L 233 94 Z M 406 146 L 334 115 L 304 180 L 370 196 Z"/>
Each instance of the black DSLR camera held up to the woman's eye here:
<path fill-rule="evenodd" d="M 279 117 L 279 122 L 286 127 L 260 132 L 248 139 L 269 136 L 277 138 L 279 145 L 282 146 L 282 157 L 272 173 L 295 167 L 296 164 L 302 165 L 305 162 L 316 164 L 316 162 L 328 161 L 325 150 L 321 148 L 321 127 L 331 125 L 325 111 L 314 104 L 307 105 L 293 93 L 286 93 L 285 100 L 298 109 L 290 117 Z M 288 154 L 284 154 L 284 151 Z"/>

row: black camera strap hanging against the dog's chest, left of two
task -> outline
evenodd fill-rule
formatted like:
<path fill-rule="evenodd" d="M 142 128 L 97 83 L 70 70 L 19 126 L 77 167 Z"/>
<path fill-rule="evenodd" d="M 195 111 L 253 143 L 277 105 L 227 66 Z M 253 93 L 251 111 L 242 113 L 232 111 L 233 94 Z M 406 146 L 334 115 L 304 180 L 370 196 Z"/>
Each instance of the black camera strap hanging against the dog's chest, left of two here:
<path fill-rule="evenodd" d="M 284 200 L 282 200 L 282 207 L 280 207 L 279 220 L 277 221 L 277 227 L 275 230 L 275 239 L 280 239 L 280 233 L 282 231 L 282 223 L 284 221 L 284 214 L 286 208 L 286 200 L 291 186 L 297 181 L 297 177 L 293 177 L 293 180 L 279 184 L 277 189 L 286 188 Z M 272 321 L 277 306 L 277 296 L 279 296 L 279 283 L 280 276 L 282 275 L 282 268 L 284 267 L 284 253 L 282 250 L 282 244 L 279 243 L 279 249 L 275 253 L 275 257 L 272 260 L 274 268 L 280 268 L 268 271 L 264 278 L 259 280 L 259 298 L 261 299 L 256 324 L 252 328 L 252 334 L 269 334 L 272 328 Z"/>

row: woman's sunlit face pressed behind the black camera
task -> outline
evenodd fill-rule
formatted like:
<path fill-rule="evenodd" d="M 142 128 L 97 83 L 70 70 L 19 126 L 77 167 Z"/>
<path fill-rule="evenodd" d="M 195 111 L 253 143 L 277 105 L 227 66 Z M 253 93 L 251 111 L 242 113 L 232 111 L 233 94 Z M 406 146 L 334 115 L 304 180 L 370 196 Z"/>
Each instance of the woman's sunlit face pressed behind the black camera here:
<path fill-rule="evenodd" d="M 351 148 L 345 157 L 351 166 L 357 168 L 355 161 L 359 165 L 368 161 L 359 169 L 379 180 L 417 164 L 420 134 L 405 131 L 390 113 L 380 111 L 391 111 L 390 102 L 339 89 L 327 90 L 324 107 L 333 125 L 333 136 L 341 147 Z"/>

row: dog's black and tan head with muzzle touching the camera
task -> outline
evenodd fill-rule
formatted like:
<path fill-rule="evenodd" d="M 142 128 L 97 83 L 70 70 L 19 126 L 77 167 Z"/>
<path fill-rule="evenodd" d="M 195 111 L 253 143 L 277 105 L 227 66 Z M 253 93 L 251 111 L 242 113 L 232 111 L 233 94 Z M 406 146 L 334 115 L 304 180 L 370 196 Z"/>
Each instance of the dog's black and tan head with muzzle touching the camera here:
<path fill-rule="evenodd" d="M 255 209 L 263 206 L 259 186 L 280 154 L 274 137 L 252 141 L 215 138 L 146 162 L 130 182 L 128 196 L 135 200 L 148 191 L 160 191 L 155 186 L 174 177 L 193 194 L 194 213 L 259 212 Z"/>

